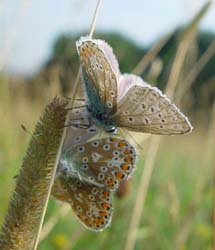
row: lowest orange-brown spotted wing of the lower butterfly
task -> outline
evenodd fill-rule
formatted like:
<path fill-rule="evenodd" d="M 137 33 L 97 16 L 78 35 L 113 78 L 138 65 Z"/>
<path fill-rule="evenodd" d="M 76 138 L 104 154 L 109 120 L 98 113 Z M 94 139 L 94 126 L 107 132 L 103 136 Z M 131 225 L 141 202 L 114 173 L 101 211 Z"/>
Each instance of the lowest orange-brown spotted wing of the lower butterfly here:
<path fill-rule="evenodd" d="M 102 231 L 111 223 L 111 191 L 83 182 L 75 176 L 59 176 L 52 195 L 71 205 L 81 223 L 90 230 Z"/>

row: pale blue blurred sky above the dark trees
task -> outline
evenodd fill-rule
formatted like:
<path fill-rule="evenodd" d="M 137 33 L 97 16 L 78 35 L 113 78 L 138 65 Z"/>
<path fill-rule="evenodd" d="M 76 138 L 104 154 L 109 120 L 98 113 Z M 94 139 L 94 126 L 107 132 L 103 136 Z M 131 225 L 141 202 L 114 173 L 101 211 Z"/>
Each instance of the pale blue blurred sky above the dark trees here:
<path fill-rule="evenodd" d="M 31 74 L 62 33 L 89 29 L 97 0 L 0 0 L 0 69 Z M 206 0 L 103 0 L 96 29 L 144 46 L 188 22 Z M 215 29 L 215 4 L 201 23 Z"/>

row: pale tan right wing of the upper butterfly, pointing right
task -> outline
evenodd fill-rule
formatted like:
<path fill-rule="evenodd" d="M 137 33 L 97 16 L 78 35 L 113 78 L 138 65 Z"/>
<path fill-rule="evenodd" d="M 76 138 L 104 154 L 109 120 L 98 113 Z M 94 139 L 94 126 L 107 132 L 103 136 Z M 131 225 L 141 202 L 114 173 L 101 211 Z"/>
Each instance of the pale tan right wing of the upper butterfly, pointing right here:
<path fill-rule="evenodd" d="M 121 86 L 124 85 L 124 86 Z M 192 130 L 188 118 L 156 87 L 135 75 L 120 78 L 117 126 L 160 135 L 184 134 Z"/>

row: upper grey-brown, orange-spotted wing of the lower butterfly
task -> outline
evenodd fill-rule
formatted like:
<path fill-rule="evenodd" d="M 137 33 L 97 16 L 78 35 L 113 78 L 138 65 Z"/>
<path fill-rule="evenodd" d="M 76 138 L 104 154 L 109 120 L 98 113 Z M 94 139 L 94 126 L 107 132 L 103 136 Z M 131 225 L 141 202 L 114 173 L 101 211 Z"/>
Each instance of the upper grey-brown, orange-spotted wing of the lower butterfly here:
<path fill-rule="evenodd" d="M 114 190 L 134 170 L 136 153 L 125 140 L 102 138 L 69 149 L 62 157 L 69 173 L 78 173 L 80 179 Z"/>

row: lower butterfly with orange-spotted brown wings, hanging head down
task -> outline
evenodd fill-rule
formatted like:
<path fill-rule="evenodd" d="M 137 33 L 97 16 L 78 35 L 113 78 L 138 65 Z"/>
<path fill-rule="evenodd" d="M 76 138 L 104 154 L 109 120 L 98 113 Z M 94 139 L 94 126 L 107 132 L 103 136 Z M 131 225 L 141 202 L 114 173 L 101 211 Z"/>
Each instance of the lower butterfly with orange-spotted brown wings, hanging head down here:
<path fill-rule="evenodd" d="M 86 111 L 73 110 L 52 195 L 69 203 L 85 227 L 102 231 L 111 223 L 112 193 L 133 172 L 136 153 L 126 140 L 94 138 L 100 129 L 82 127 L 87 121 Z"/>

